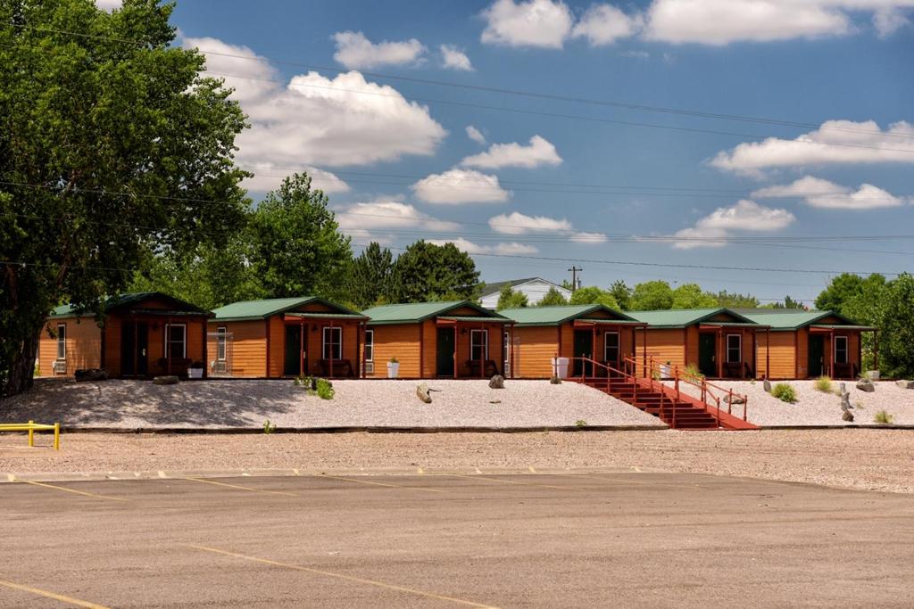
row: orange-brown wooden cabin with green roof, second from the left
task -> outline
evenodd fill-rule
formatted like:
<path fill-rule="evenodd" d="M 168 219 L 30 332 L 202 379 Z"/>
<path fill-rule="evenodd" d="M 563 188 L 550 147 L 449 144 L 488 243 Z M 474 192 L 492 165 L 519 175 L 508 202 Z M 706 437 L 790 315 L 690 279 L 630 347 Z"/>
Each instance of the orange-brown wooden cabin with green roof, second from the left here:
<path fill-rule="evenodd" d="M 213 311 L 214 376 L 357 378 L 367 318 L 314 296 L 242 300 Z"/>

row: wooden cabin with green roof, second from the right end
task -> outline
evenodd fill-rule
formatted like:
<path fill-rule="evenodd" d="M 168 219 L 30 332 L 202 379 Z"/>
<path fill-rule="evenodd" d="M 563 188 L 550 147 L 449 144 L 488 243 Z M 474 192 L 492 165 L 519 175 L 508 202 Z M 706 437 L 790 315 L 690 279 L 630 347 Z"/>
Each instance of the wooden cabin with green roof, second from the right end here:
<path fill-rule="evenodd" d="M 679 309 L 628 311 L 647 324 L 640 358 L 685 369 L 694 365 L 708 378 L 755 378 L 756 351 L 764 325 L 735 310 Z"/>

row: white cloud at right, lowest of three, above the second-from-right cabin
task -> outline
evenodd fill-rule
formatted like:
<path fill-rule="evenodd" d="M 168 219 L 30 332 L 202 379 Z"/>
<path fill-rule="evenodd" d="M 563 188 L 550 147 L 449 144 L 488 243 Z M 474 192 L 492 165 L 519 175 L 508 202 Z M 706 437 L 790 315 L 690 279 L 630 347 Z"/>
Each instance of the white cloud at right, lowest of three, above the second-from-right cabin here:
<path fill-rule="evenodd" d="M 723 247 L 727 242 L 722 239 L 732 231 L 770 232 L 790 226 L 795 220 L 796 216 L 786 209 L 765 207 L 743 199 L 730 207 L 718 207 L 698 220 L 695 226 L 677 231 L 675 236 L 682 240 L 676 241 L 673 247 Z"/>

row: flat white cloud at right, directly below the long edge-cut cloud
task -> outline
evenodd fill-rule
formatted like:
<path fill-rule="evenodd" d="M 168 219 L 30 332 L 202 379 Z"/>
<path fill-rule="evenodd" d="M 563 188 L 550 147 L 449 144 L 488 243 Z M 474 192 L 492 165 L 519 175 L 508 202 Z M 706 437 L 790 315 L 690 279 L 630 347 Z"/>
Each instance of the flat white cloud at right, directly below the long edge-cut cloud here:
<path fill-rule="evenodd" d="M 753 197 L 800 198 L 807 205 L 828 209 L 875 209 L 898 207 L 906 199 L 888 193 L 873 184 L 860 184 L 856 190 L 828 180 L 807 175 L 792 184 L 768 186 L 752 193 Z"/>

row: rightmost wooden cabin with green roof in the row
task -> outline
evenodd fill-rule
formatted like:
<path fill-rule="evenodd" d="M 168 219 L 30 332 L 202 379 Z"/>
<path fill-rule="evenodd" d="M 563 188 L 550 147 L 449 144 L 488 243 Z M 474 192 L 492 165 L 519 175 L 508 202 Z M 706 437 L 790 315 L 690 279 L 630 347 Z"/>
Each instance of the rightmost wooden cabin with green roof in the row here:
<path fill-rule="evenodd" d="M 830 376 L 856 379 L 864 372 L 861 334 L 876 328 L 861 326 L 833 311 L 740 309 L 742 315 L 771 331 L 759 341 L 759 375 L 771 379 L 810 379 Z M 878 352 L 874 368 L 878 368 Z"/>

